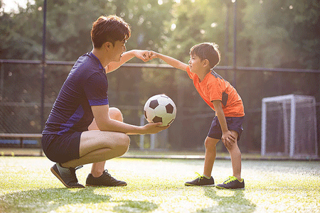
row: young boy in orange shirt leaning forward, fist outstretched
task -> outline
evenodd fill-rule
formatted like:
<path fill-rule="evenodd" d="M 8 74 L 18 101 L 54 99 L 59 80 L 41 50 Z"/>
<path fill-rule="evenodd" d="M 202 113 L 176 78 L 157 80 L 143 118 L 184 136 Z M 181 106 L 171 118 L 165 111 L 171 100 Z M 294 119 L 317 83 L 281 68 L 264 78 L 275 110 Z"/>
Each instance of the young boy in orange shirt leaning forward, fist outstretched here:
<path fill-rule="evenodd" d="M 184 70 L 193 80 L 198 93 L 203 100 L 215 111 L 215 117 L 206 137 L 206 158 L 203 175 L 196 180 L 186 182 L 187 186 L 214 186 L 211 176 L 215 161 L 215 146 L 221 139 L 228 149 L 233 166 L 233 176 L 216 187 L 220 189 L 242 189 L 245 182 L 241 178 L 241 153 L 238 148 L 238 140 L 242 132 L 242 121 L 245 116 L 242 99 L 238 92 L 229 82 L 223 80 L 213 67 L 220 62 L 218 45 L 214 43 L 201 43 L 190 50 L 188 65 L 154 51 L 149 51 L 149 58 L 160 58 L 169 65 L 179 70 Z"/>

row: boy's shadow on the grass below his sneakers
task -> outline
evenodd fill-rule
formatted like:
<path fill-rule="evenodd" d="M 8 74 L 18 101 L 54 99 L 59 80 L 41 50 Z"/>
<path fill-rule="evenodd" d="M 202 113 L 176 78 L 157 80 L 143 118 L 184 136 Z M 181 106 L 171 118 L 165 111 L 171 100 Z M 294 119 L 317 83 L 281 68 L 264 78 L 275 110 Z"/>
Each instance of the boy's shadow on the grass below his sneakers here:
<path fill-rule="evenodd" d="M 200 209 L 203 212 L 255 212 L 256 205 L 245 198 L 244 190 L 218 190 L 215 187 L 203 187 L 204 195 L 218 204 L 214 207 Z M 220 193 L 222 192 L 222 193 Z M 225 192 L 225 193 L 223 193 Z M 218 195 L 226 194 L 226 195 Z"/>

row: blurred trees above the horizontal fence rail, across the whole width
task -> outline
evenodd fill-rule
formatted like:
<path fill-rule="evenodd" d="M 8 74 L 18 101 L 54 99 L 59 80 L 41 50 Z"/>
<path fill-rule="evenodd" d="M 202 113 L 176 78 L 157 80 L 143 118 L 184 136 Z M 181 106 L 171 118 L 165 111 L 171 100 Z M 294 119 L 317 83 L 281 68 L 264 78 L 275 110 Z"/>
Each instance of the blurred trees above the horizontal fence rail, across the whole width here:
<path fill-rule="evenodd" d="M 223 53 L 220 65 L 230 65 L 224 57 L 230 56 L 233 6 L 218 0 L 48 1 L 47 58 L 76 60 L 92 48 L 92 22 L 117 14 L 132 26 L 128 50 L 156 50 L 187 62 L 193 45 L 215 42 Z M 318 69 L 319 8 L 316 0 L 239 1 L 238 64 Z M 18 13 L 2 13 L 0 20 L 0 58 L 41 58 L 42 0 Z"/>

